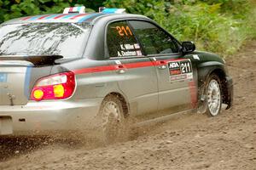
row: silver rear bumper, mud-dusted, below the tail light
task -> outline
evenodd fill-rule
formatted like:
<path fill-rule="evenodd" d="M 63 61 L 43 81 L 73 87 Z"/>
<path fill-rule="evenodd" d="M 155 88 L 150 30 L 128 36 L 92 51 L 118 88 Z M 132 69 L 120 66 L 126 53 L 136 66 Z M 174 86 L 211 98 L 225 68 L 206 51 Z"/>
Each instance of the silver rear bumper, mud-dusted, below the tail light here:
<path fill-rule="evenodd" d="M 44 135 L 98 127 L 102 99 L 0 105 L 0 135 Z"/>

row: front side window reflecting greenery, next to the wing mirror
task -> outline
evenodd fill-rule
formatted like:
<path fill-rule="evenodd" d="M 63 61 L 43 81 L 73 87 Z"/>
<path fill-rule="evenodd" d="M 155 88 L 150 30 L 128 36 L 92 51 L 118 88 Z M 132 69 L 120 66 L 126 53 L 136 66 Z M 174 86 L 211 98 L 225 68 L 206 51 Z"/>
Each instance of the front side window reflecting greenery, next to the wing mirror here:
<path fill-rule="evenodd" d="M 146 54 L 178 53 L 177 42 L 157 26 L 146 21 L 129 21 Z"/>

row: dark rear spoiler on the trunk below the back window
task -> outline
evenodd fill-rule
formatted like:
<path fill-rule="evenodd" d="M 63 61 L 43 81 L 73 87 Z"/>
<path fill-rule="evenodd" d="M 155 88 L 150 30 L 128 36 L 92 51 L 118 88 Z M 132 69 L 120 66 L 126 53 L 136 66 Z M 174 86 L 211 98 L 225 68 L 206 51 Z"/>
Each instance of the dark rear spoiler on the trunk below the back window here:
<path fill-rule="evenodd" d="M 7 55 L 0 56 L 0 65 L 1 61 L 11 61 L 9 63 L 15 64 L 15 61 L 28 61 L 34 66 L 45 66 L 45 65 L 56 65 L 56 59 L 63 59 L 61 55 L 29 55 L 29 56 L 16 56 L 16 55 Z M 24 62 L 17 62 L 21 64 Z"/>

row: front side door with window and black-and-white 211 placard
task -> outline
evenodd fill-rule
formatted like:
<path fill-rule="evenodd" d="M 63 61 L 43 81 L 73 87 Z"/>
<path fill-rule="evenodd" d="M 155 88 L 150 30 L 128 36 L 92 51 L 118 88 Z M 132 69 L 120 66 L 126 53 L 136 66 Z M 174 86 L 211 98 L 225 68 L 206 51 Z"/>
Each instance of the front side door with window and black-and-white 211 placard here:
<path fill-rule="evenodd" d="M 177 41 L 148 21 L 129 21 L 145 53 L 154 62 L 158 77 L 159 111 L 177 112 L 191 108 L 195 99 L 193 60 L 180 53 Z M 192 89 L 193 86 L 193 89 Z"/>

